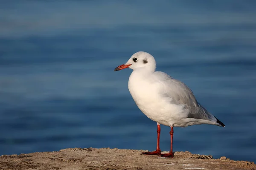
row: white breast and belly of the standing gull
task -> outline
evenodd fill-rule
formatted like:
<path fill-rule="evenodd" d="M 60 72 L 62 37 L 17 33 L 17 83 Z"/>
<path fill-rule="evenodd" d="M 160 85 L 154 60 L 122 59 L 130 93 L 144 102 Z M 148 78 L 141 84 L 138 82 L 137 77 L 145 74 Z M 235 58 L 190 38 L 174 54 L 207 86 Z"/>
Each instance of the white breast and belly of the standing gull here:
<path fill-rule="evenodd" d="M 172 105 L 171 98 L 160 94 L 161 83 L 151 74 L 139 74 L 133 71 L 129 78 L 128 88 L 138 108 L 151 120 L 162 125 L 172 126 L 183 106 Z M 180 118 L 178 118 L 180 119 Z"/>

